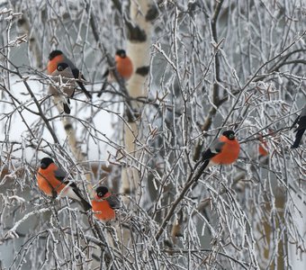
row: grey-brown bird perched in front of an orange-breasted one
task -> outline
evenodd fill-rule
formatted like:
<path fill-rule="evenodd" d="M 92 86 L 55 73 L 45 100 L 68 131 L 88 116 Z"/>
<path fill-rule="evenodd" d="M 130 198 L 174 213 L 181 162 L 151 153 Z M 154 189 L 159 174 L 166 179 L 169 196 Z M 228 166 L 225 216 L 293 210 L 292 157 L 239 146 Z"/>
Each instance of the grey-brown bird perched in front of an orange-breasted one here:
<path fill-rule="evenodd" d="M 67 98 L 61 94 L 58 88 L 54 85 L 49 85 L 49 93 L 53 95 L 55 103 L 60 103 L 60 105 L 63 106 L 64 112 L 69 114 L 69 97 L 73 97 L 76 90 L 74 81 L 75 77 L 72 74 L 71 68 L 67 65 L 67 63 L 58 63 L 57 69 L 55 69 L 51 75 L 54 82 L 64 84 L 60 90 L 67 94 Z M 59 76 L 61 76 L 61 78 L 59 78 Z M 70 79 L 73 80 L 71 81 Z"/>

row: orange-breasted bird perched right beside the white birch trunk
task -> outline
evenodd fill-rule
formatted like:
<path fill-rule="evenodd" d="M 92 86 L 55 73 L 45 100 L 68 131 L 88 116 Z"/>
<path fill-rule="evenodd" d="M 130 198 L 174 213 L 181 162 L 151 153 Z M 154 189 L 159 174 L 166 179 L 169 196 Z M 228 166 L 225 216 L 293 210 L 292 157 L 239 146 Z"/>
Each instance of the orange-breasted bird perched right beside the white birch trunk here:
<path fill-rule="evenodd" d="M 118 49 L 115 54 L 115 64 L 116 69 L 124 81 L 127 81 L 130 79 L 130 76 L 133 74 L 133 64 L 130 60 L 130 58 L 126 55 L 126 52 L 124 49 Z M 101 96 L 103 94 L 104 89 L 106 88 L 107 83 L 110 83 L 113 81 L 113 75 L 111 68 L 107 69 L 106 72 L 103 75 L 103 78 L 107 78 L 107 82 L 104 82 L 101 88 L 101 91 L 98 93 L 98 96 Z"/>

